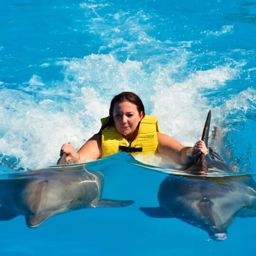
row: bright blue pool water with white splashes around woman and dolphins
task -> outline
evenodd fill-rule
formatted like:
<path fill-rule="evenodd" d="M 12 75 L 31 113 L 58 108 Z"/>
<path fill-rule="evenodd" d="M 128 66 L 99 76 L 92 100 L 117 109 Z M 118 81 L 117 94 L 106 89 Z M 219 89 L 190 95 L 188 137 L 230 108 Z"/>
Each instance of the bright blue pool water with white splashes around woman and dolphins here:
<path fill-rule="evenodd" d="M 54 165 L 65 142 L 78 149 L 121 91 L 188 146 L 211 110 L 236 174 L 256 174 L 255 1 L 1 0 L 0 17 L 3 175 Z M 144 215 L 167 174 L 122 157 L 93 168 L 105 198 L 133 205 L 73 211 L 37 229 L 22 216 L 2 221 L 1 254 L 255 255 L 256 218 L 237 218 L 214 242 L 179 219 Z"/>

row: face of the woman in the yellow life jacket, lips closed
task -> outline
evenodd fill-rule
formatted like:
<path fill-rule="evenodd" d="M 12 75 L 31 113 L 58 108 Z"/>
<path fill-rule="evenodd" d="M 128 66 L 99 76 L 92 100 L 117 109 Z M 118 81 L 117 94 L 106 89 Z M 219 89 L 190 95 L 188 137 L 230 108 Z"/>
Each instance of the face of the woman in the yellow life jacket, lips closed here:
<path fill-rule="evenodd" d="M 129 101 L 117 102 L 114 105 L 113 117 L 118 132 L 127 137 L 137 131 L 143 112 L 139 113 L 137 106 Z"/>

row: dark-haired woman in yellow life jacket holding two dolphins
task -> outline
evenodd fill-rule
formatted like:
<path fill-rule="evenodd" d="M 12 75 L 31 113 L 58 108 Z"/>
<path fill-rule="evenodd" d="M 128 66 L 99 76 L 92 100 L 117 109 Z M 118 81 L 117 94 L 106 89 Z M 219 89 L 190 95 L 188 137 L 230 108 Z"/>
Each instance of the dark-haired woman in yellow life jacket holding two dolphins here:
<path fill-rule="evenodd" d="M 188 147 L 161 133 L 157 118 L 145 115 L 141 99 L 133 92 L 122 92 L 110 103 L 109 117 L 101 119 L 99 133 L 93 135 L 78 152 L 72 144 L 64 144 L 66 161 L 84 163 L 120 151 L 132 155 L 150 152 L 167 155 L 176 164 L 190 165 L 200 154 L 207 155 L 203 141 Z"/>

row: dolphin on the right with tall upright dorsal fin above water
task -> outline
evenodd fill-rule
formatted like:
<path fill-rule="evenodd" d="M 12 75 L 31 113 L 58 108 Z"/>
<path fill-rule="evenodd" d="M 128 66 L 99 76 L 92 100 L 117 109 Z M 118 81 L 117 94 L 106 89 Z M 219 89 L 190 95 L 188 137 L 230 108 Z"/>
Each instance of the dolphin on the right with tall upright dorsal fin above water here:
<path fill-rule="evenodd" d="M 187 168 L 190 175 L 170 174 L 160 184 L 160 207 L 141 207 L 149 217 L 178 218 L 208 232 L 210 238 L 222 241 L 228 238 L 228 227 L 236 217 L 256 216 L 256 183 L 251 175 L 231 175 L 218 149 L 223 145 L 220 128 L 214 128 L 209 140 L 210 112 L 202 140 L 209 147 L 209 155 L 201 155 Z M 210 177 L 214 170 L 224 171 L 226 176 Z M 193 175 L 191 175 L 193 174 Z"/>

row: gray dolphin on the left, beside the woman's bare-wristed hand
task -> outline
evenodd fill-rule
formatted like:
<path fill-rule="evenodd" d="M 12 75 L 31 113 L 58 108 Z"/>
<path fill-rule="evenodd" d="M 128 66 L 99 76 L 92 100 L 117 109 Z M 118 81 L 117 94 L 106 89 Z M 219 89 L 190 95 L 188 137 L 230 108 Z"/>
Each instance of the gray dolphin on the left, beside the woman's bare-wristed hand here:
<path fill-rule="evenodd" d="M 51 216 L 95 207 L 123 207 L 134 201 L 101 199 L 104 176 L 84 165 L 9 174 L 0 179 L 0 220 L 25 216 L 37 228 Z"/>

